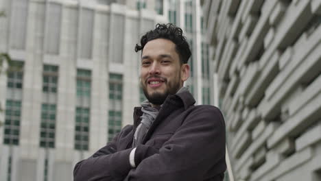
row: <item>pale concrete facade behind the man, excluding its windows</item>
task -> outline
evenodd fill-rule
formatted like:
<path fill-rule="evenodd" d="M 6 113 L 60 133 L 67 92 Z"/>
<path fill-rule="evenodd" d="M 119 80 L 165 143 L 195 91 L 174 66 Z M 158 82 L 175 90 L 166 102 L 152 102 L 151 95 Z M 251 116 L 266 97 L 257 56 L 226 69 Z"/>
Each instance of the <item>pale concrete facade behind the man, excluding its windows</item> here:
<path fill-rule="evenodd" d="M 8 52 L 12 60 L 23 62 L 20 90 L 8 88 L 8 77 L 5 73 L 0 75 L 2 108 L 8 99 L 21 101 L 19 144 L 4 144 L 5 126 L 0 129 L 0 180 L 72 180 L 75 163 L 91 156 L 108 140 L 108 108 L 115 106 L 108 99 L 110 73 L 123 77 L 121 125 L 132 123 L 132 109 L 140 103 L 140 53 L 134 52 L 134 45 L 156 23 L 168 22 L 169 8 L 169 1 L 163 1 L 162 15 L 155 12 L 154 1 L 146 1 L 147 8 L 141 10 L 136 10 L 133 2 L 0 0 L 0 10 L 5 11 L 5 17 L 0 18 L 0 52 Z M 178 3 L 177 25 L 184 29 L 185 1 Z M 195 42 L 193 64 L 198 71 L 194 71 L 193 81 L 187 86 L 194 82 L 200 86 L 199 1 L 193 1 L 193 7 L 197 7 L 191 9 L 196 14 L 193 31 L 187 36 Z M 51 19 L 56 16 L 59 18 Z M 14 29 L 23 30 L 15 34 Z M 45 64 L 58 67 L 54 94 L 43 93 Z M 91 71 L 90 98 L 86 99 L 90 105 L 88 150 L 82 151 L 74 148 L 75 108 L 82 104 L 76 96 L 78 69 Z M 195 86 L 194 95 L 201 104 L 202 87 Z M 56 104 L 53 148 L 40 147 L 39 143 L 44 102 Z M 5 120 L 5 112 L 0 113 L 0 119 Z"/>

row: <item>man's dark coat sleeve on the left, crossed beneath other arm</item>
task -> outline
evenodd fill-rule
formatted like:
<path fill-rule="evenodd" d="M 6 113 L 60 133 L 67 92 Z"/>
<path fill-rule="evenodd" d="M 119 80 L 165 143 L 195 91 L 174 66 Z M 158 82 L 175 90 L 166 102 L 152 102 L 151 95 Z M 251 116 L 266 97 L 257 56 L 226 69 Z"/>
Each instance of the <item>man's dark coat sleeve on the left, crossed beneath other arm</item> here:
<path fill-rule="evenodd" d="M 128 132 L 126 126 L 123 130 Z M 123 130 L 121 133 L 123 133 Z M 93 156 L 78 162 L 73 169 L 74 181 L 117 181 L 123 180 L 128 176 L 128 172 L 132 167 L 130 166 L 129 155 L 133 148 L 124 149 L 117 152 L 117 141 L 121 137 L 121 133 L 117 134 L 105 147 L 99 149 Z M 142 145 L 136 148 L 139 153 L 139 160 L 152 156 L 158 153 L 158 149 Z"/>

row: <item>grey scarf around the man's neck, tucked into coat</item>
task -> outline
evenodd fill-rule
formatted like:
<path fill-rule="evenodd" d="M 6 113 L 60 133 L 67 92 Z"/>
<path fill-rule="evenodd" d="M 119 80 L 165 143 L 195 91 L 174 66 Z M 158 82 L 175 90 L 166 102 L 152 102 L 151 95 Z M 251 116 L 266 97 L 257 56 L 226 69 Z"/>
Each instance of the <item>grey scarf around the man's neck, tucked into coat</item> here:
<path fill-rule="evenodd" d="M 176 94 L 185 91 L 189 90 L 183 86 L 182 88 L 180 88 L 180 90 L 178 90 Z M 150 104 L 150 102 L 147 100 L 143 101 L 143 103 L 141 104 L 141 111 L 143 112 L 143 115 L 141 116 L 141 123 L 137 127 L 136 132 L 134 133 L 134 140 L 132 143 L 133 147 L 136 147 L 138 144 L 141 144 L 143 142 L 145 134 L 150 129 L 150 126 L 156 119 L 159 112 L 159 110 L 157 108 L 153 108 L 152 104 Z"/>

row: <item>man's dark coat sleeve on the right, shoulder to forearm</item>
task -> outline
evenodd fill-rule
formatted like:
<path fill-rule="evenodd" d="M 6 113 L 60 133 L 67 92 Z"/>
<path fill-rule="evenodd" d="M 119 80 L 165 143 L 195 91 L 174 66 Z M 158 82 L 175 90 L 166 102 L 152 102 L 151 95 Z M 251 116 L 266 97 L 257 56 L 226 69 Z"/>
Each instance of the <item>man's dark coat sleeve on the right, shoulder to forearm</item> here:
<path fill-rule="evenodd" d="M 143 159 L 126 180 L 205 180 L 225 170 L 222 113 L 213 106 L 196 106 L 159 153 Z"/>

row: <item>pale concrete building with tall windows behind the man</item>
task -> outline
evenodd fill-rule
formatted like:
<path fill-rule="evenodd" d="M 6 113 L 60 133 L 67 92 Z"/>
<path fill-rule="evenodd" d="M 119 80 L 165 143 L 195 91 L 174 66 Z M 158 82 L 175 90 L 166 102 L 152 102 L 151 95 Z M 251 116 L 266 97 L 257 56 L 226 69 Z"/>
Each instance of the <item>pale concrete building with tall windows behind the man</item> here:
<path fill-rule="evenodd" d="M 2 10 L 0 52 L 14 64 L 0 75 L 0 180 L 72 180 L 76 162 L 132 122 L 144 99 L 134 45 L 156 23 L 185 29 L 187 86 L 213 102 L 199 1 L 0 0 Z"/>

